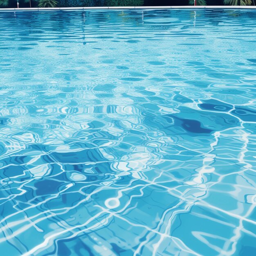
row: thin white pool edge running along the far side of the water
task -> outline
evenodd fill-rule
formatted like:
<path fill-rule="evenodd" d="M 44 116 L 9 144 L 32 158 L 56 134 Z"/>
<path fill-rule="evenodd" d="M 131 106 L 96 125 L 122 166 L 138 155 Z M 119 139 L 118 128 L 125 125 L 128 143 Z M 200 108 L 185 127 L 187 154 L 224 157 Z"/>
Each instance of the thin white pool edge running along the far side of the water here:
<path fill-rule="evenodd" d="M 256 6 L 118 6 L 118 7 L 54 7 L 54 8 L 0 8 L 0 11 L 58 11 L 58 10 L 95 10 L 95 9 L 256 9 Z"/>

